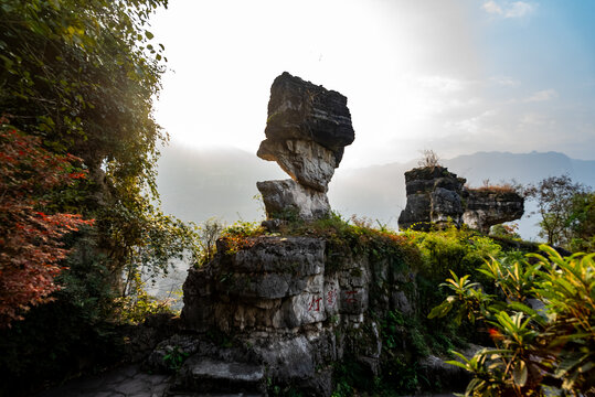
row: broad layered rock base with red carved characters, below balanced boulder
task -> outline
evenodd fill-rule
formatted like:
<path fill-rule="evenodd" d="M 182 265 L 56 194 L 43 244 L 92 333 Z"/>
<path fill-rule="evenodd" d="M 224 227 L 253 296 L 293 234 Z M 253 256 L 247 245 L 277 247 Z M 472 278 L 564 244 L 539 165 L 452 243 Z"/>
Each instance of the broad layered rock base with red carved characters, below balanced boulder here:
<path fill-rule="evenodd" d="M 414 273 L 365 255 L 330 256 L 318 237 L 263 236 L 231 248 L 217 242 L 215 258 L 190 270 L 182 322 L 199 333 L 234 334 L 238 345 L 226 360 L 209 343 L 174 342 L 193 354 L 179 372 L 179 389 L 195 390 L 224 373 L 245 391 L 262 390 L 268 378 L 329 396 L 331 364 L 344 357 L 378 374 L 382 339 L 373 312 L 411 313 Z"/>

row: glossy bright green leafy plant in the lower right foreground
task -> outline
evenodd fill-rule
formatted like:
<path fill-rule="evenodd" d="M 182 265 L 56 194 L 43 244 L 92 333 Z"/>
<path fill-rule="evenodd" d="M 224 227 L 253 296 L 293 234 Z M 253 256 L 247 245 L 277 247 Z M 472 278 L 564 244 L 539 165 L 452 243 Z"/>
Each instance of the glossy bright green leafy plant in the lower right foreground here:
<path fill-rule="evenodd" d="M 496 347 L 471 358 L 455 352 L 459 361 L 448 362 L 474 375 L 465 396 L 544 396 L 548 387 L 574 396 L 595 391 L 595 254 L 563 258 L 549 246 L 540 249 L 545 256 L 492 259 L 480 269 L 506 301 L 485 294 L 469 276 L 453 273 L 443 285 L 455 294 L 428 316 L 457 309 L 457 318 L 488 326 Z"/>

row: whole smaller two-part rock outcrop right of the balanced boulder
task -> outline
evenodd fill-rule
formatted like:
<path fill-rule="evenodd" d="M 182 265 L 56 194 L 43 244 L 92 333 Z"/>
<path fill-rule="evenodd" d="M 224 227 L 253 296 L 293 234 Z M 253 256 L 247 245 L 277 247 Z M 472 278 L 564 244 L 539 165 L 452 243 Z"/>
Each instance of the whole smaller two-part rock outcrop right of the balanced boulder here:
<path fill-rule="evenodd" d="M 522 216 L 524 198 L 518 193 L 497 187 L 467 189 L 465 182 L 444 167 L 405 172 L 407 204 L 399 227 L 426 230 L 432 224 L 453 222 L 457 227 L 466 224 L 489 233 L 490 226 Z"/>

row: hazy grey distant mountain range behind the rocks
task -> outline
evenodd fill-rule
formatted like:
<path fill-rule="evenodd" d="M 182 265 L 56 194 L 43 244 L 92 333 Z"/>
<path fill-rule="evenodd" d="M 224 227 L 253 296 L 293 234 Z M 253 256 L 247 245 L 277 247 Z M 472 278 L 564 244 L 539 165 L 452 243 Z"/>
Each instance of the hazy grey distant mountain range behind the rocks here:
<path fill-rule="evenodd" d="M 471 186 L 485 180 L 516 180 L 527 184 L 546 176 L 569 174 L 573 181 L 595 186 L 595 161 L 575 160 L 559 152 L 478 152 L 444 160 L 451 172 Z M 329 185 L 331 206 L 349 217 L 365 216 L 396 228 L 405 206 L 403 173 L 416 162 L 389 163 L 361 169 L 339 168 Z M 288 178 L 274 162 L 237 149 L 198 150 L 172 144 L 162 150 L 157 179 L 162 208 L 183 221 L 202 223 L 211 217 L 233 223 L 264 218 L 262 201 L 255 197 L 257 181 Z M 531 211 L 528 206 L 525 214 Z M 520 232 L 534 238 L 536 218 L 523 216 Z"/>

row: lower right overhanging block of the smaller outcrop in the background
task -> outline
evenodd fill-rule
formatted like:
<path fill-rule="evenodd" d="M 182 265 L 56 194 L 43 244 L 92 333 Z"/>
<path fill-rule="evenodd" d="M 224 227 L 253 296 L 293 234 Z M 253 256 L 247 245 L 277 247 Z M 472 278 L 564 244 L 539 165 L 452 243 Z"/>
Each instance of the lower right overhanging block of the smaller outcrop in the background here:
<path fill-rule="evenodd" d="M 489 233 L 490 227 L 519 219 L 524 212 L 524 198 L 514 192 L 471 190 L 463 222 L 469 227 Z"/>

